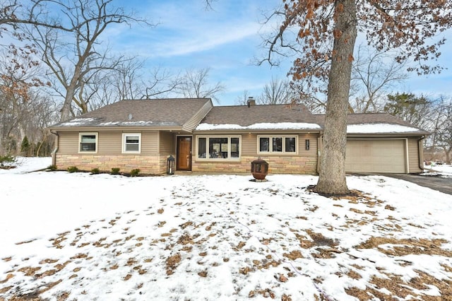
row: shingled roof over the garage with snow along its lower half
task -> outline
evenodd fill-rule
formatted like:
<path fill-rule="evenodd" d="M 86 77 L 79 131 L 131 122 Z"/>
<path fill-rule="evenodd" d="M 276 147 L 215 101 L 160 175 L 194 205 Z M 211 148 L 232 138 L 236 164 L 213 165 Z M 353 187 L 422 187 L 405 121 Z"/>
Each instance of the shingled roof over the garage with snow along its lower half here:
<path fill-rule="evenodd" d="M 316 122 L 325 126 L 325 115 L 314 115 Z M 407 134 L 427 135 L 428 131 L 388 113 L 347 114 L 347 134 Z"/>

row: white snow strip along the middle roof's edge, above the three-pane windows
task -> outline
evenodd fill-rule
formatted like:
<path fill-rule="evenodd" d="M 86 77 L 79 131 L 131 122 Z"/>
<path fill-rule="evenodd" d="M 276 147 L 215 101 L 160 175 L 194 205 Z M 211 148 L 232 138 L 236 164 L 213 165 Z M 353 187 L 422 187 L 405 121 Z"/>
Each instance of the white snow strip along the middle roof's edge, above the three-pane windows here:
<path fill-rule="evenodd" d="M 239 124 L 199 124 L 197 131 L 218 129 L 321 129 L 319 124 L 309 124 L 304 122 L 279 122 L 279 123 L 258 123 L 249 126 L 241 126 Z"/>

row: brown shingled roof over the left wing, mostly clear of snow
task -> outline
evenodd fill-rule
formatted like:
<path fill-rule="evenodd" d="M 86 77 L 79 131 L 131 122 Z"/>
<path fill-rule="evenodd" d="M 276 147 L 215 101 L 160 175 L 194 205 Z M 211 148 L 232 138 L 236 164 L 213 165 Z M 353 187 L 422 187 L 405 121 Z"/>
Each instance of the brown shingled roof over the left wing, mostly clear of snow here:
<path fill-rule="evenodd" d="M 204 117 L 210 107 L 212 107 L 210 98 L 121 100 L 74 119 L 54 124 L 50 129 L 73 126 L 182 127 L 190 123 L 198 112 L 206 111 L 201 116 Z M 198 122 L 199 120 L 194 126 Z"/>

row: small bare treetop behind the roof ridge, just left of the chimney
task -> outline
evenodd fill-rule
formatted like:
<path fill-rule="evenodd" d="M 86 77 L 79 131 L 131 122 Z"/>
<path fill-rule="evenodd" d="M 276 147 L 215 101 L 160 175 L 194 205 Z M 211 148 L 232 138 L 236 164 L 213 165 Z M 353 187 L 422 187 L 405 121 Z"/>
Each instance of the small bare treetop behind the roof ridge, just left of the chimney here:
<path fill-rule="evenodd" d="M 212 98 L 218 102 L 218 94 L 225 90 L 225 85 L 208 82 L 210 69 L 188 69 L 184 73 L 182 84 L 177 90 L 185 98 Z"/>

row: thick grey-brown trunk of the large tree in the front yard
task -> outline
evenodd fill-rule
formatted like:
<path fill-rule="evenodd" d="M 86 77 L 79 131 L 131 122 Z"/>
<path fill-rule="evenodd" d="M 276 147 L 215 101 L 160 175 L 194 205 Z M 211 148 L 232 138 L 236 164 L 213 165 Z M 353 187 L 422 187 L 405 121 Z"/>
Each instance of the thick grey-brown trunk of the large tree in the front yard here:
<path fill-rule="evenodd" d="M 345 181 L 347 108 L 352 75 L 353 48 L 357 36 L 355 0 L 335 1 L 336 24 L 328 81 L 325 131 L 316 192 L 348 194 Z"/>

